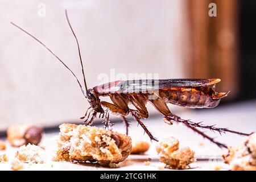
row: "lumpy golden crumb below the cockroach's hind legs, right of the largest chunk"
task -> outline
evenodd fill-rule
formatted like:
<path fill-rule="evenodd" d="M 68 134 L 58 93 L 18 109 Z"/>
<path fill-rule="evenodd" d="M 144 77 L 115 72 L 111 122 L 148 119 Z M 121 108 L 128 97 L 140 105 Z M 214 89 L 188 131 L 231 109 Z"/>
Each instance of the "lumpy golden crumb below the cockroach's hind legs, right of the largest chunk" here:
<path fill-rule="evenodd" d="M 186 169 L 196 161 L 195 152 L 189 147 L 179 148 L 179 140 L 174 137 L 163 139 L 156 146 L 159 161 L 171 169 Z"/>

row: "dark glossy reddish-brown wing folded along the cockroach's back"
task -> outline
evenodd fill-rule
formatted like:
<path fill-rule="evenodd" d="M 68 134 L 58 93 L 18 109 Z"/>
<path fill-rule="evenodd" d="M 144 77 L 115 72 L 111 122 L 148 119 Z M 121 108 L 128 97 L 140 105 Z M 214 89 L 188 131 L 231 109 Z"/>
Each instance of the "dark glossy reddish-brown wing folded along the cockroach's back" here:
<path fill-rule="evenodd" d="M 142 93 L 151 90 L 168 90 L 179 87 L 208 86 L 216 84 L 218 78 L 160 79 L 160 80 L 119 80 L 95 86 L 98 94 L 107 93 Z"/>

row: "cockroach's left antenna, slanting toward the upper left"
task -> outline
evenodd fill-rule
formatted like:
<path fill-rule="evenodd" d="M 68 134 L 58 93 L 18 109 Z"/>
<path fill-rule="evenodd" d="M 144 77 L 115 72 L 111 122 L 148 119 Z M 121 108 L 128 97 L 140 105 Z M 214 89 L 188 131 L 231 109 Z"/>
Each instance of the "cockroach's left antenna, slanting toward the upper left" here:
<path fill-rule="evenodd" d="M 59 60 L 60 63 L 63 64 L 64 67 L 67 68 L 68 71 L 70 71 L 70 72 L 72 73 L 72 75 L 76 78 L 76 81 L 77 81 L 77 83 L 79 84 L 79 86 L 80 86 L 80 88 L 81 88 L 82 94 L 84 95 L 85 98 L 88 98 L 88 97 L 86 97 L 87 94 L 88 94 L 88 93 L 87 93 L 86 84 L 85 84 L 85 89 L 86 89 L 86 96 L 85 96 L 84 89 L 82 88 L 82 85 L 81 85 L 79 79 L 76 77 L 75 73 L 73 73 L 72 70 L 71 70 L 58 56 L 56 56 L 55 53 L 53 53 L 53 52 L 51 51 L 51 49 L 49 49 L 44 43 L 42 43 L 40 40 L 38 40 L 37 38 L 35 38 L 35 36 L 31 35 L 30 33 L 28 33 L 28 32 L 27 32 L 26 30 L 24 30 L 23 28 L 20 28 L 19 26 L 17 26 L 17 25 L 14 24 L 13 22 L 10 22 L 10 23 L 13 24 L 13 26 L 19 28 L 19 30 L 25 32 L 27 35 L 31 36 L 33 39 L 35 39 L 37 42 L 39 42 L 43 47 L 45 47 L 49 52 L 51 52 L 52 55 L 55 56 L 55 57 L 57 58 L 57 60 Z"/>

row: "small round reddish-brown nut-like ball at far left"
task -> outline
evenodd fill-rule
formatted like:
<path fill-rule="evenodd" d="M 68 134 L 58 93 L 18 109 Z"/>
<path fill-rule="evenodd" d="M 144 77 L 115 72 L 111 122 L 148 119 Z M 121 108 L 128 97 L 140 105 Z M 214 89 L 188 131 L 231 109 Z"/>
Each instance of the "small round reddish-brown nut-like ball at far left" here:
<path fill-rule="evenodd" d="M 25 131 L 24 139 L 26 140 L 26 143 L 31 143 L 37 145 L 40 143 L 43 136 L 43 129 L 38 126 L 30 126 Z"/>

